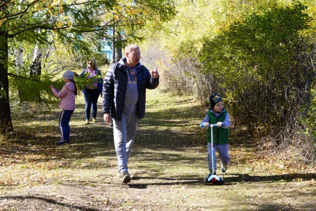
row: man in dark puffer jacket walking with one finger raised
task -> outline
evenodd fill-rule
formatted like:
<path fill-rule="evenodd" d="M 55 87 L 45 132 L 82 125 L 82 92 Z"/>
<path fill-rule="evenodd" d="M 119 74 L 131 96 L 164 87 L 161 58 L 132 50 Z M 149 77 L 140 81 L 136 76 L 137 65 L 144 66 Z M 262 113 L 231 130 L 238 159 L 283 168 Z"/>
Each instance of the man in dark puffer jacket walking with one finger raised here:
<path fill-rule="evenodd" d="M 118 174 L 128 183 L 134 176 L 128 173 L 127 161 L 134 142 L 137 123 L 145 116 L 146 89 L 159 85 L 157 67 L 149 70 L 140 64 L 141 52 L 137 45 L 125 48 L 125 58 L 111 65 L 103 83 L 104 121 L 113 119 Z"/>

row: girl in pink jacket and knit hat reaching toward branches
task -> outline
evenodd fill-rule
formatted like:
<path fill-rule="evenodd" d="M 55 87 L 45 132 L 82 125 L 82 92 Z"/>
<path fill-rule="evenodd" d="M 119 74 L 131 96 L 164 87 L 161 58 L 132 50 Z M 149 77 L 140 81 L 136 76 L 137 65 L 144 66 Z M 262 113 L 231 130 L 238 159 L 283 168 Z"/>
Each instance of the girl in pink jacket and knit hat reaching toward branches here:
<path fill-rule="evenodd" d="M 78 94 L 77 86 L 74 81 L 74 73 L 72 71 L 69 70 L 63 74 L 63 81 L 65 81 L 65 86 L 63 86 L 61 90 L 58 90 L 53 85 L 50 85 L 54 95 L 60 98 L 59 109 L 62 109 L 59 118 L 61 139 L 55 143 L 56 145 L 70 143 L 69 121 L 75 111 L 75 96 Z"/>

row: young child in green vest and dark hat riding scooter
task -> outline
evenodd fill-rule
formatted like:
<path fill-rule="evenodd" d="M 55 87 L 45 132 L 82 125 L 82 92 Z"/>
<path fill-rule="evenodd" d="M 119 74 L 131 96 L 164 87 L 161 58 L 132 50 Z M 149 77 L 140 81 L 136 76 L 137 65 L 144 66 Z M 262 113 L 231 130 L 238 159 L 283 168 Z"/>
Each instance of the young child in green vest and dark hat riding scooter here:
<path fill-rule="evenodd" d="M 208 164 L 210 174 L 212 175 L 212 140 L 211 140 L 211 128 L 210 124 L 217 124 L 217 128 L 213 128 L 213 143 L 214 143 L 214 155 L 216 151 L 220 158 L 221 172 L 226 172 L 227 166 L 229 165 L 231 157 L 228 154 L 228 142 L 229 142 L 229 126 L 231 122 L 229 120 L 229 114 L 223 107 L 223 99 L 219 94 L 212 94 L 210 97 L 211 107 L 206 117 L 202 120 L 200 126 L 204 126 L 208 129 Z M 214 156 L 215 163 L 215 174 L 216 174 L 216 161 L 217 158 Z"/>

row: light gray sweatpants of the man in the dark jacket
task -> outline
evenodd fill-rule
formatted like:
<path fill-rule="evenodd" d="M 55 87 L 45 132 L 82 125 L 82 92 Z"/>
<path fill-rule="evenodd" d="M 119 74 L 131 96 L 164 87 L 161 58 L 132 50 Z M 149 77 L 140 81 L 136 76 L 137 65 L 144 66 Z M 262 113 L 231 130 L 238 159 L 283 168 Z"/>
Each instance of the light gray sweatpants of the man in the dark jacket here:
<path fill-rule="evenodd" d="M 137 111 L 131 114 L 123 112 L 121 120 L 113 119 L 113 134 L 115 151 L 118 158 L 118 171 L 122 174 L 128 172 L 127 161 L 133 146 L 137 123 Z"/>

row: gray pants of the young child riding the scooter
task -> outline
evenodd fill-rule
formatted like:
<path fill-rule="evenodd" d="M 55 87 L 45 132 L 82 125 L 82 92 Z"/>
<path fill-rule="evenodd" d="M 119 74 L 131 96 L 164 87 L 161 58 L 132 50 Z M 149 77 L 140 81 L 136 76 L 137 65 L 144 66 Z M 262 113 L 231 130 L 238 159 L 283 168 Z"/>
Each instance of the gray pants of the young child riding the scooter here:
<path fill-rule="evenodd" d="M 228 154 L 228 143 L 220 143 L 214 144 L 214 162 L 215 162 L 215 171 L 216 167 L 216 151 L 218 152 L 218 156 L 223 167 L 227 167 L 229 165 L 229 161 L 231 157 Z M 212 143 L 208 143 L 208 163 L 209 163 L 209 171 L 212 171 Z"/>

